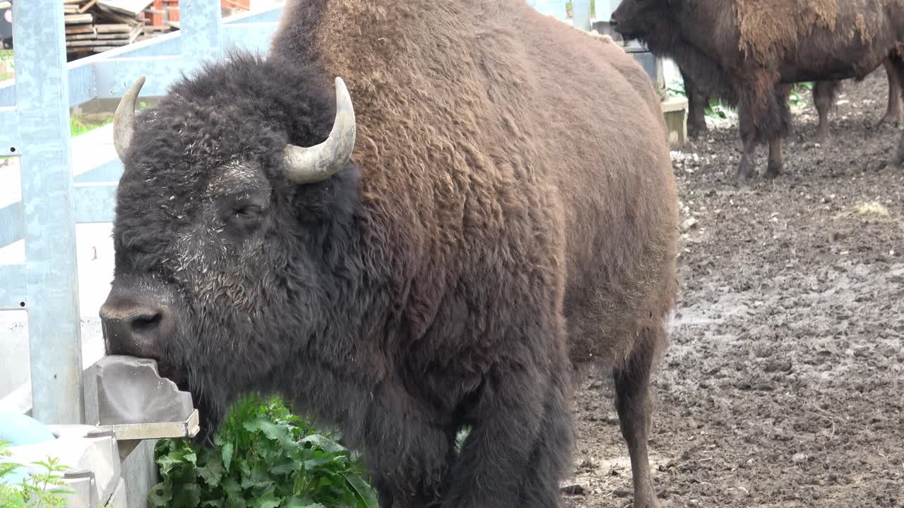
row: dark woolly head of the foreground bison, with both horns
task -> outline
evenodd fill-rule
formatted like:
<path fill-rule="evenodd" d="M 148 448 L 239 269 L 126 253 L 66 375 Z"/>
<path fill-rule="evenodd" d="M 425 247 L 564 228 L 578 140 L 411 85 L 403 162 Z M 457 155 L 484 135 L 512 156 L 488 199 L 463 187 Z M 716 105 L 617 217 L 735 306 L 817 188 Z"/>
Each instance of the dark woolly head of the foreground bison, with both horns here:
<path fill-rule="evenodd" d="M 322 76 L 236 55 L 136 115 L 139 79 L 116 111 L 107 353 L 155 359 L 208 422 L 324 334 L 352 269 L 354 113 Z"/>

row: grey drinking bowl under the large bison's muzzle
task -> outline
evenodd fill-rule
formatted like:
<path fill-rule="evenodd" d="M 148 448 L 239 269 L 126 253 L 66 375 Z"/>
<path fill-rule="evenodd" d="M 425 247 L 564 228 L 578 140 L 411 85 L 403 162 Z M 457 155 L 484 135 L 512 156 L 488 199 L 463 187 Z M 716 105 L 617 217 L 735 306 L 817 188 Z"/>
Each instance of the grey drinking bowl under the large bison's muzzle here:
<path fill-rule="evenodd" d="M 93 366 L 98 393 L 97 427 L 117 440 L 194 437 L 200 430 L 192 394 L 160 377 L 157 362 L 134 356 L 105 356 Z"/>

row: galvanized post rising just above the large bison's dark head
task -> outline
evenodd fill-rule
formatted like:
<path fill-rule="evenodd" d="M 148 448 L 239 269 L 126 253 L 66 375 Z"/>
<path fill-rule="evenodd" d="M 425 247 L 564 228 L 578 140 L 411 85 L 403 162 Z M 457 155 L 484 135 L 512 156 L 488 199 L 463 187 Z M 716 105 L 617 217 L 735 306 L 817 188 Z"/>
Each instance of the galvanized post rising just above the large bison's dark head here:
<path fill-rule="evenodd" d="M 182 58 L 189 69 L 222 55 L 220 0 L 183 0 L 179 3 Z"/>

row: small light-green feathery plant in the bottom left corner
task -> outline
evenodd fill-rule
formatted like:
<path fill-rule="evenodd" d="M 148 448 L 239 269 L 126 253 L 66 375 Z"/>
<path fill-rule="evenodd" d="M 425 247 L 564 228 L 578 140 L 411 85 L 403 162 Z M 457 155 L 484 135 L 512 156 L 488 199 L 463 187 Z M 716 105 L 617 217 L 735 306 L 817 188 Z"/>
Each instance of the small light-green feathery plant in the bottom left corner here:
<path fill-rule="evenodd" d="M 60 459 L 48 456 L 47 460 L 33 462 L 42 471 L 28 475 L 19 484 L 9 484 L 3 479 L 12 475 L 21 464 L 6 462 L 4 459 L 12 455 L 7 449 L 9 441 L 0 440 L 0 506 L 3 508 L 63 508 L 66 499 L 61 494 L 74 494 L 62 488 L 65 482 L 62 471 L 69 469 L 60 464 Z"/>

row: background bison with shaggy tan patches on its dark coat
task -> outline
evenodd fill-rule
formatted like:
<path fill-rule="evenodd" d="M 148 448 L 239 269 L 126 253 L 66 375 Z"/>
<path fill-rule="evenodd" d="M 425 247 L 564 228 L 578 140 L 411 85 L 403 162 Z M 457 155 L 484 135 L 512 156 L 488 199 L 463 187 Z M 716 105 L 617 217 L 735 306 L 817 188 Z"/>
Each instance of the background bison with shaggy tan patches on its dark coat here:
<path fill-rule="evenodd" d="M 623 0 L 612 23 L 626 39 L 640 39 L 673 58 L 694 82 L 733 92 L 744 145 L 739 180 L 752 177 L 754 151 L 764 141 L 767 176 L 781 173 L 791 83 L 859 80 L 883 61 L 890 62 L 898 82 L 904 78 L 897 50 L 904 40 L 899 2 Z M 904 136 L 895 160 L 902 159 Z"/>

